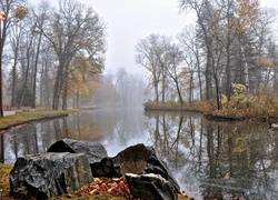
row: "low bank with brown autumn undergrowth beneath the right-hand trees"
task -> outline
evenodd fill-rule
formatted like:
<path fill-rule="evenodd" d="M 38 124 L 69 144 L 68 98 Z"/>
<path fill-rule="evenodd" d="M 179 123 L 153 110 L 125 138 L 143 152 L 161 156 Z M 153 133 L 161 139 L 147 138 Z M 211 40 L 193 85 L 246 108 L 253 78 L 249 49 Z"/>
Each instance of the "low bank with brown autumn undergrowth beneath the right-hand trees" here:
<path fill-rule="evenodd" d="M 268 101 L 251 102 L 248 106 L 222 106 L 217 109 L 211 102 L 195 102 L 180 106 L 177 102 L 145 103 L 145 111 L 185 111 L 202 113 L 208 120 L 214 121 L 261 121 L 278 122 L 278 103 Z"/>

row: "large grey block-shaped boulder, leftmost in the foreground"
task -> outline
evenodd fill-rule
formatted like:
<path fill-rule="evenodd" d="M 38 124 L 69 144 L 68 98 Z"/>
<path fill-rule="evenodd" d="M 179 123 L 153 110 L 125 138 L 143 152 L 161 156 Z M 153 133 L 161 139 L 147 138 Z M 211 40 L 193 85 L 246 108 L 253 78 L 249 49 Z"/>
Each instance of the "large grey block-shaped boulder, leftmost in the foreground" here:
<path fill-rule="evenodd" d="M 18 158 L 10 173 L 16 199 L 50 199 L 72 192 L 93 181 L 83 153 L 44 153 Z"/>

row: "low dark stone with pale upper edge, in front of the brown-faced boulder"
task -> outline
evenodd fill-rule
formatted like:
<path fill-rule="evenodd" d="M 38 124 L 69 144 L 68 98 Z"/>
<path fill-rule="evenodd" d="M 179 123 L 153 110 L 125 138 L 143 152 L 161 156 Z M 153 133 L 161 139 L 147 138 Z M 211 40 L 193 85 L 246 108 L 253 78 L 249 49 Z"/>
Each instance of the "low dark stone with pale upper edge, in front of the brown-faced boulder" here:
<path fill-rule="evenodd" d="M 126 173 L 130 192 L 135 198 L 146 200 L 178 200 L 173 184 L 159 174 Z"/>

